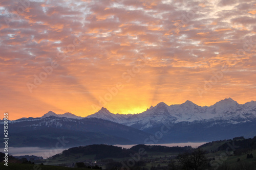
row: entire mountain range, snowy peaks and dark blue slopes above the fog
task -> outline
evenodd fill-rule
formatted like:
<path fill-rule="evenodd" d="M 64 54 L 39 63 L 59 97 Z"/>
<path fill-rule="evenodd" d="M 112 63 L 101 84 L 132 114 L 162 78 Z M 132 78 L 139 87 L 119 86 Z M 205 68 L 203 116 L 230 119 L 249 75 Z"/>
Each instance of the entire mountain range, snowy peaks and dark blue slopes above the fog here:
<path fill-rule="evenodd" d="M 190 101 L 170 106 L 161 102 L 138 114 L 113 114 L 102 107 L 87 117 L 49 111 L 9 124 L 13 147 L 53 146 L 56 136 L 65 136 L 72 147 L 212 141 L 256 135 L 256 102 L 241 105 L 228 98 L 204 107 Z"/>

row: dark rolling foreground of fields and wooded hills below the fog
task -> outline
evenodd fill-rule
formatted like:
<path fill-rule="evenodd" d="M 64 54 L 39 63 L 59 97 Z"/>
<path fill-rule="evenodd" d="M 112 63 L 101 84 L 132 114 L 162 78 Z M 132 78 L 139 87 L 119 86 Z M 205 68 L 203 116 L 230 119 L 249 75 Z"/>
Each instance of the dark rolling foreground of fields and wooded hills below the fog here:
<path fill-rule="evenodd" d="M 212 170 L 212 169 L 219 169 L 219 170 L 253 169 L 254 170 L 254 168 L 256 168 L 255 147 L 246 148 L 246 146 L 249 144 L 250 144 L 249 146 L 253 146 L 252 139 L 240 140 L 239 141 L 240 147 L 238 144 L 236 144 L 236 146 L 238 146 L 239 149 L 236 147 L 232 148 L 231 146 L 229 148 L 227 146 L 228 144 L 223 145 L 224 143 L 230 142 L 230 141 L 231 140 L 209 142 L 203 145 L 202 147 L 200 147 L 201 152 L 200 150 L 193 150 L 191 149 L 191 147 L 190 148 L 188 147 L 185 149 L 182 148 L 181 150 L 180 148 L 171 149 L 166 147 L 162 148 L 158 146 L 158 147 L 154 147 L 153 150 L 150 150 L 150 148 L 146 148 L 144 145 L 138 145 L 137 148 L 133 148 L 132 150 L 126 150 L 126 149 L 120 149 L 118 147 L 113 147 L 112 145 L 103 145 L 103 144 L 89 145 L 87 147 L 72 148 L 67 150 L 66 152 L 63 151 L 61 154 L 52 156 L 47 160 L 45 159 L 35 160 L 34 162 L 37 164 L 36 165 L 37 167 L 34 167 L 33 164 L 13 164 L 13 163 L 10 163 L 9 166 L 7 167 L 4 165 L 4 163 L 1 163 L 0 169 L 26 169 L 26 170 L 74 169 L 73 166 L 76 162 L 84 162 L 84 164 L 86 164 L 87 167 L 91 166 L 93 168 L 102 167 L 102 169 L 105 169 L 105 168 L 111 169 L 113 167 L 126 166 L 126 165 L 129 165 L 129 163 L 131 165 L 131 160 L 134 162 L 132 165 L 134 166 L 133 168 L 151 169 L 151 167 L 153 166 L 155 169 L 160 169 L 160 168 L 167 168 L 168 166 L 169 168 L 172 167 L 172 168 L 182 169 L 182 166 L 183 167 L 191 166 L 191 163 L 194 163 L 193 159 L 198 155 L 193 155 L 193 154 L 201 154 L 201 155 L 204 155 L 203 156 L 204 158 L 202 159 L 202 161 L 205 162 L 205 164 L 202 165 L 202 167 L 204 168 L 208 167 L 209 170 Z M 137 150 L 139 150 L 138 148 L 140 147 L 146 148 L 144 150 L 144 154 L 140 155 L 138 152 L 136 152 Z M 225 149 L 226 147 L 227 149 Z M 235 152 L 234 153 L 231 152 L 232 150 L 234 150 Z M 239 155 L 239 154 L 243 154 L 243 155 Z M 252 154 L 254 158 L 247 159 L 247 154 Z M 178 155 L 179 157 L 177 157 Z M 185 162 L 184 162 L 184 158 L 185 158 Z M 187 165 L 186 160 L 190 161 L 189 165 Z M 44 163 L 44 165 L 40 165 L 41 163 Z M 207 164 L 211 166 L 207 166 Z M 70 167 L 64 167 L 64 166 L 70 166 Z"/>

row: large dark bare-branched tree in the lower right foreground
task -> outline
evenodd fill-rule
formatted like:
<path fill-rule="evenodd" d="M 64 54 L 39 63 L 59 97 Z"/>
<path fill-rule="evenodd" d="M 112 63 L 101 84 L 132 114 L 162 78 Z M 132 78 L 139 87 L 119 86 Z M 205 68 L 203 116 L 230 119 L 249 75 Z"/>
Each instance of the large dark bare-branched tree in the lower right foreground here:
<path fill-rule="evenodd" d="M 196 149 L 191 154 L 184 153 L 180 155 L 180 162 L 183 169 L 193 169 L 193 170 L 205 169 L 208 164 L 208 160 L 204 156 L 205 153 L 206 152 L 201 149 Z"/>

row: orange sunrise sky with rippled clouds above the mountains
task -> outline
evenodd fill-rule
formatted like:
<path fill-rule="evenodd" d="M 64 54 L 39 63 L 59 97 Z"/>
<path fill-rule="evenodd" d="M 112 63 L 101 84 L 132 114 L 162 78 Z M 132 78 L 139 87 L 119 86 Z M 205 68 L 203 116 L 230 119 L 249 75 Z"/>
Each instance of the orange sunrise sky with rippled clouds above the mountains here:
<path fill-rule="evenodd" d="M 255 23 L 246 0 L 1 1 L 1 112 L 255 101 Z"/>

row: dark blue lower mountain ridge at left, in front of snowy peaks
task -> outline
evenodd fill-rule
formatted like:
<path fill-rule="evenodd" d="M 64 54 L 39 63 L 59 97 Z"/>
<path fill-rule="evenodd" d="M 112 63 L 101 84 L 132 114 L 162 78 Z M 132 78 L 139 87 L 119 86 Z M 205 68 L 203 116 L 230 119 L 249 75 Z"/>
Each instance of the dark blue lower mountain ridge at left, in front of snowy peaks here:
<path fill-rule="evenodd" d="M 150 134 L 98 118 L 66 117 L 22 118 L 9 123 L 12 147 L 55 147 L 65 138 L 63 147 L 88 144 L 137 144 Z M 39 132 L 39 133 L 38 133 Z"/>

